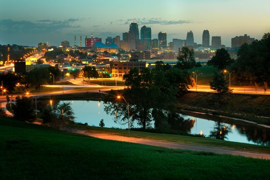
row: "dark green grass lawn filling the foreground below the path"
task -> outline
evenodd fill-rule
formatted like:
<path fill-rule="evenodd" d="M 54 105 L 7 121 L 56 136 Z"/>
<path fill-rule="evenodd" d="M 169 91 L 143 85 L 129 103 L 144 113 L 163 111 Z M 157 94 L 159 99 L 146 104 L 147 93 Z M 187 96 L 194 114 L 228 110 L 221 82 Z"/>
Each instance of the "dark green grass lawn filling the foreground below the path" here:
<path fill-rule="evenodd" d="M 270 161 L 102 140 L 0 118 L 1 179 L 269 179 Z"/>

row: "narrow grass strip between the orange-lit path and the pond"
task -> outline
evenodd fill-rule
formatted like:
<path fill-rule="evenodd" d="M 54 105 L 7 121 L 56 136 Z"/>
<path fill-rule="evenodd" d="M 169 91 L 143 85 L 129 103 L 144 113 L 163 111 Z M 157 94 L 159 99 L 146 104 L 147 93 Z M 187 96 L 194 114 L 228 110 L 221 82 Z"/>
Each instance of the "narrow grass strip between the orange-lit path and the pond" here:
<path fill-rule="evenodd" d="M 213 139 L 213 138 L 202 138 L 202 137 L 161 134 L 161 133 L 148 133 L 148 132 L 139 132 L 139 131 L 131 131 L 129 135 L 127 130 L 121 130 L 121 129 L 85 127 L 84 125 L 77 125 L 77 127 L 79 129 L 85 129 L 87 132 L 92 132 L 92 133 L 106 133 L 106 134 L 113 134 L 113 135 L 120 135 L 120 136 L 131 136 L 131 137 L 138 137 L 138 138 L 145 138 L 145 139 L 168 141 L 168 142 L 181 143 L 181 144 L 186 144 L 186 145 L 215 147 L 215 148 L 223 148 L 223 149 L 229 149 L 229 150 L 241 150 L 241 151 L 260 152 L 260 153 L 270 154 L 270 147 L 250 145 L 248 143 L 232 142 L 232 141 L 225 141 L 225 140 L 219 140 L 219 139 Z"/>

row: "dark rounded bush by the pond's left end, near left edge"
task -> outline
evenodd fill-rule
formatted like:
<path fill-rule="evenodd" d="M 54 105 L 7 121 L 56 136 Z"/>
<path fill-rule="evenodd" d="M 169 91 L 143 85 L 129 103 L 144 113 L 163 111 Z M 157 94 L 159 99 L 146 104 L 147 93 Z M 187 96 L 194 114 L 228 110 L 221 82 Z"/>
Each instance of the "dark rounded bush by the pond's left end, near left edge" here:
<path fill-rule="evenodd" d="M 34 109 L 32 99 L 25 96 L 17 96 L 12 105 L 14 118 L 20 121 L 32 121 L 34 118 Z"/>

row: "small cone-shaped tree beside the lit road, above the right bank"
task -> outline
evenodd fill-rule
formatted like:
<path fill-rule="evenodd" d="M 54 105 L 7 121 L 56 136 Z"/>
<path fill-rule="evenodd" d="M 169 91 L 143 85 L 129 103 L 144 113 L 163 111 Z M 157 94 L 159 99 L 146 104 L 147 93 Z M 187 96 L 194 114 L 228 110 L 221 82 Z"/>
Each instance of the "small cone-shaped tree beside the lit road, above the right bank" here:
<path fill-rule="evenodd" d="M 231 93 L 229 89 L 228 81 L 225 80 L 222 73 L 214 73 L 213 81 L 210 82 L 210 88 L 216 91 L 219 94 Z"/>

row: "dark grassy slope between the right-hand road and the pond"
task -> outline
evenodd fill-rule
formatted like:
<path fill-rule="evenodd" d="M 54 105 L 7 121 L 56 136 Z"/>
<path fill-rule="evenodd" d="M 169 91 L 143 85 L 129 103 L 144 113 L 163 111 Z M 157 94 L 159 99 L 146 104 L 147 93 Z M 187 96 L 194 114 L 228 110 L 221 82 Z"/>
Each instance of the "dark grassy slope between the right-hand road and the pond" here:
<path fill-rule="evenodd" d="M 270 96 L 188 92 L 178 98 L 179 111 L 187 110 L 205 114 L 239 118 L 270 125 Z"/>

